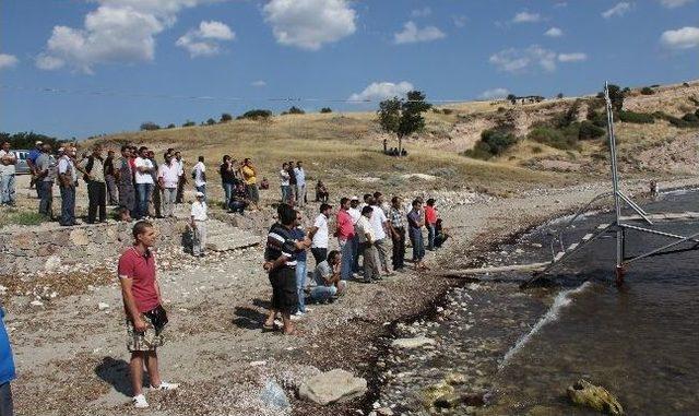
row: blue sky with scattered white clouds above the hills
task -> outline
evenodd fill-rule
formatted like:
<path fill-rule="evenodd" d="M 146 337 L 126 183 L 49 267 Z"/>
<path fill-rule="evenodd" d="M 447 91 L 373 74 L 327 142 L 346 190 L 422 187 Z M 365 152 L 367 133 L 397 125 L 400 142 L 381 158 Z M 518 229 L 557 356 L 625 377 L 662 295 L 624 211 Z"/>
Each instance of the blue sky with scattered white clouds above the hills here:
<path fill-rule="evenodd" d="M 0 131 L 699 79 L 699 0 L 3 0 Z"/>

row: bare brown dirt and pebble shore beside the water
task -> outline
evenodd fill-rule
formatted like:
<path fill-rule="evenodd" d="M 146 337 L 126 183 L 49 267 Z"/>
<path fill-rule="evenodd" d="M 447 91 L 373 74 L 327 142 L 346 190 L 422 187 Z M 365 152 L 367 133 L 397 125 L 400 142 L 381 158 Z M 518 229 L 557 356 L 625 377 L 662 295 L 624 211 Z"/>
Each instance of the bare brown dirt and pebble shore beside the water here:
<path fill-rule="evenodd" d="M 663 186 L 695 183 L 688 179 Z M 644 187 L 630 183 L 627 189 Z M 450 269 L 464 264 L 465 252 L 487 250 L 514 231 L 574 211 L 602 191 L 604 185 L 577 186 L 441 207 L 454 239 L 428 263 Z M 311 306 L 312 311 L 298 321 L 301 334 L 285 337 L 260 331 L 270 296 L 261 258 L 261 248 L 250 248 L 159 273 L 171 316 L 161 366 L 166 380 L 182 388 L 147 393 L 152 407 L 146 412 L 132 411 L 129 404 L 126 331 L 116 278 L 42 307 L 10 304 L 7 325 L 19 372 L 13 383 L 16 414 L 283 414 L 259 400 L 266 379 L 289 385 L 305 373 L 337 367 L 369 377 L 378 355 L 374 340 L 387 335 L 390 322 L 429 308 L 449 285 L 431 274 L 413 272 L 377 285 L 354 284 L 339 301 Z M 99 310 L 99 302 L 109 307 Z M 299 415 L 336 415 L 366 403 L 320 408 L 294 400 L 292 405 Z"/>

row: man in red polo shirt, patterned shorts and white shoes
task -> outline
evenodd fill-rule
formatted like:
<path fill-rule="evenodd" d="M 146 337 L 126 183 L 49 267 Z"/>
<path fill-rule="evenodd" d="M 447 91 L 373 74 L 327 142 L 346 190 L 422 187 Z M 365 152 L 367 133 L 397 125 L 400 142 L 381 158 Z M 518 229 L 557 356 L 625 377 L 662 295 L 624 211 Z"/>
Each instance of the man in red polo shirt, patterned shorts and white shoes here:
<path fill-rule="evenodd" d="M 118 275 L 127 323 L 127 347 L 131 353 L 129 373 L 137 408 L 149 407 L 143 395 L 143 366 L 145 365 L 151 391 L 176 390 L 179 384 L 161 378 L 157 348 L 163 346 L 163 330 L 167 313 L 163 308 L 161 286 L 156 278 L 156 231 L 153 224 L 139 221 L 133 226 L 133 247 L 119 258 Z"/>

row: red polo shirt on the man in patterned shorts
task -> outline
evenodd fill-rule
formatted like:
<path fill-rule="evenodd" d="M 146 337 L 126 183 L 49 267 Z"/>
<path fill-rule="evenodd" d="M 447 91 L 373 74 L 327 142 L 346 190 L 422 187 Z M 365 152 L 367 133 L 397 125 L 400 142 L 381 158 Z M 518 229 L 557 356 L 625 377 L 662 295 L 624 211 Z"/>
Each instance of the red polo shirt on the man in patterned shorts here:
<path fill-rule="evenodd" d="M 119 278 L 131 278 L 131 293 L 139 312 L 147 312 L 158 306 L 155 290 L 155 258 L 153 252 L 141 254 L 135 248 L 125 251 L 117 269 Z"/>

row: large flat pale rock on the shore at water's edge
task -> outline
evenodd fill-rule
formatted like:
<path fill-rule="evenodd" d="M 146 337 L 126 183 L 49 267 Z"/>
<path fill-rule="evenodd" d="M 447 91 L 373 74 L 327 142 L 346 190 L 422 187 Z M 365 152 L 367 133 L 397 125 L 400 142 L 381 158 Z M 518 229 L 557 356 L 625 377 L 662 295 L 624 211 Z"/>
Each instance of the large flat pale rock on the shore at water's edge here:
<path fill-rule="evenodd" d="M 301 399 L 327 405 L 364 395 L 367 381 L 348 371 L 334 369 L 304 380 L 298 388 Z"/>

